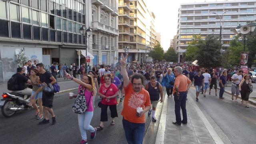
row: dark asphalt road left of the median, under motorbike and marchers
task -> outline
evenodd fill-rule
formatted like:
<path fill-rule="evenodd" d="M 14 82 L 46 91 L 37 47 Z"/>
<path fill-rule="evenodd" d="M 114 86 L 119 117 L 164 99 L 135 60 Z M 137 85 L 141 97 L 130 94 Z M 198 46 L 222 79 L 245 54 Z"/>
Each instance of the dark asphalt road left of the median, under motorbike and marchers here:
<path fill-rule="evenodd" d="M 74 91 L 76 93 L 77 91 Z M 68 98 L 68 94 L 59 94 L 54 97 L 53 110 L 56 115 L 56 124 L 50 123 L 39 125 L 34 117 L 35 110 L 32 108 L 27 111 L 16 112 L 10 118 L 0 114 L 0 143 L 1 144 L 79 144 L 82 140 L 78 127 L 77 114 L 72 111 L 74 100 Z M 96 97 L 95 105 L 98 105 L 100 99 Z M 119 101 L 119 100 L 118 100 Z M 118 103 L 118 118 L 115 118 L 116 124 L 111 124 L 110 110 L 108 109 L 108 122 L 104 122 L 104 129 L 96 132 L 96 137 L 91 140 L 90 132 L 87 132 L 89 144 L 128 144 L 124 135 L 122 126 L 122 102 Z M 91 125 L 96 127 L 100 124 L 101 109 L 94 109 L 94 116 Z M 146 129 L 151 118 L 146 117 Z M 146 133 L 146 130 L 145 130 Z"/>

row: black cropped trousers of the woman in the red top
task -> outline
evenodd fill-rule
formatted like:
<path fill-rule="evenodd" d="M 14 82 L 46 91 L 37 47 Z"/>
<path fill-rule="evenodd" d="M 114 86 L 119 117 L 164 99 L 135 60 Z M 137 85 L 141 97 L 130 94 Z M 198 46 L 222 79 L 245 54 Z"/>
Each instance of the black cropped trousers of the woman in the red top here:
<path fill-rule="evenodd" d="M 114 104 L 114 105 L 101 104 L 101 113 L 100 113 L 100 121 L 101 122 L 108 121 L 108 106 L 109 106 L 109 110 L 111 112 L 111 118 L 118 117 L 117 110 L 116 110 L 116 104 Z"/>

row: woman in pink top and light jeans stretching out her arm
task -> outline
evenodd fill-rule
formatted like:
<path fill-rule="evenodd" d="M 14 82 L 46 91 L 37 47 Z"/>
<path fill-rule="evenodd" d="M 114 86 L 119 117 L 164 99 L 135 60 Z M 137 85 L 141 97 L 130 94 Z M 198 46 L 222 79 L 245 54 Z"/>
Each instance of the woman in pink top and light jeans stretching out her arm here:
<path fill-rule="evenodd" d="M 67 78 L 70 78 L 71 80 L 74 80 L 76 83 L 79 84 L 78 94 L 81 93 L 82 95 L 82 93 L 84 93 L 84 96 L 86 99 L 86 105 L 88 106 L 88 109 L 84 112 L 84 114 L 78 114 L 78 125 L 79 125 L 81 136 L 82 136 L 82 141 L 80 144 L 87 144 L 86 130 L 89 130 L 91 132 L 91 139 L 93 139 L 96 136 L 96 128 L 93 128 L 90 125 L 90 122 L 93 116 L 93 106 L 92 106 L 92 98 L 93 98 L 92 93 L 94 93 L 93 78 L 90 75 L 84 75 L 82 77 L 82 80 L 78 80 L 70 76 L 67 72 L 65 72 L 65 74 Z M 73 98 L 76 98 L 78 94 L 74 94 Z M 72 99 L 72 97 L 69 97 L 69 98 Z"/>

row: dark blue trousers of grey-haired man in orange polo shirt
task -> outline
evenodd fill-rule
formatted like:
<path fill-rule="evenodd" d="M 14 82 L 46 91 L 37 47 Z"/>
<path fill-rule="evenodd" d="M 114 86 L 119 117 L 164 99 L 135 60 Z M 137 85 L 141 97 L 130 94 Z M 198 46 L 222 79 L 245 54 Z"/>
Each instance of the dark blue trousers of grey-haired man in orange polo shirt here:
<path fill-rule="evenodd" d="M 175 102 L 175 116 L 176 116 L 176 122 L 177 124 L 181 124 L 181 116 L 180 116 L 180 108 L 182 110 L 182 116 L 183 120 L 182 122 L 187 123 L 187 110 L 186 110 L 186 98 L 187 98 L 187 92 L 179 92 L 180 97 L 178 99 L 178 96 L 176 93 L 174 93 L 174 102 Z"/>

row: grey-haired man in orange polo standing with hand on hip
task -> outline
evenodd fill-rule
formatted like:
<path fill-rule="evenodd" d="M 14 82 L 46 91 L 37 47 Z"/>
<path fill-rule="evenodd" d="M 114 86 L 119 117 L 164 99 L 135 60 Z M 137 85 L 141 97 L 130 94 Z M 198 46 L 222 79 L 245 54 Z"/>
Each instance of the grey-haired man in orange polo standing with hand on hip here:
<path fill-rule="evenodd" d="M 176 125 L 187 124 L 187 110 L 186 110 L 186 98 L 188 90 L 191 86 L 191 80 L 182 74 L 182 68 L 177 66 L 174 68 L 174 75 L 176 76 L 174 87 L 173 87 L 173 96 L 175 102 L 175 116 L 176 122 L 172 122 Z M 183 120 L 180 116 L 180 108 L 182 110 Z"/>

